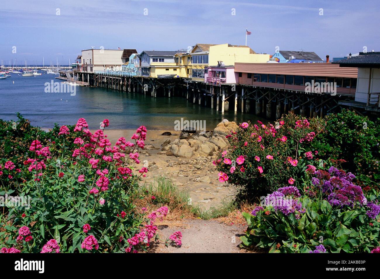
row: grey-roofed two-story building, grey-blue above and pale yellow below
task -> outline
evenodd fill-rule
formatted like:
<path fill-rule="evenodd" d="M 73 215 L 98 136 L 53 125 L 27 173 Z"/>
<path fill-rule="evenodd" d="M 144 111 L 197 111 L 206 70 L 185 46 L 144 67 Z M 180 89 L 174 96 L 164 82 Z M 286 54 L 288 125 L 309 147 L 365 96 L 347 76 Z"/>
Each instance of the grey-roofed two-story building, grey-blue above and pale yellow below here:
<path fill-rule="evenodd" d="M 174 60 L 176 51 L 144 50 L 139 54 L 141 76 L 178 76 L 178 66 Z"/>

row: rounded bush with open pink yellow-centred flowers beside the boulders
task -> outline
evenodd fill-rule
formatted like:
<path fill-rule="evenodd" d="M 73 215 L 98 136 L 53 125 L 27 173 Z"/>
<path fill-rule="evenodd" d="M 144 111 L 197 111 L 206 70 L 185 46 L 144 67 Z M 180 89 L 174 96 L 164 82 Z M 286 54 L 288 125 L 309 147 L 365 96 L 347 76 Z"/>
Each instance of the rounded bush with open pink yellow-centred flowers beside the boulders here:
<path fill-rule="evenodd" d="M 228 181 L 240 190 L 238 198 L 250 199 L 285 184 L 294 184 L 302 177 L 317 150 L 310 142 L 323 129 L 323 121 L 292 113 L 276 126 L 242 123 L 236 132 L 227 135 L 230 148 L 214 161 L 219 181 Z"/>

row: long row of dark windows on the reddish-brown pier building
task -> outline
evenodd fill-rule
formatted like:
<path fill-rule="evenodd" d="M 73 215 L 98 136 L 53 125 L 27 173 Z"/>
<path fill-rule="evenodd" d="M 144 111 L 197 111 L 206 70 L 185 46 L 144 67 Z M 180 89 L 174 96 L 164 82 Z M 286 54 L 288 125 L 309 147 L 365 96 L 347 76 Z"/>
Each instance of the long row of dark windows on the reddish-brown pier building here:
<path fill-rule="evenodd" d="M 242 73 L 239 73 L 239 77 Z M 252 79 L 252 73 L 247 73 L 247 78 Z M 277 84 L 305 85 L 307 82 L 336 82 L 337 87 L 356 88 L 356 79 L 349 77 L 313 77 L 313 76 L 292 76 L 276 74 L 253 74 L 255 82 L 270 82 Z"/>

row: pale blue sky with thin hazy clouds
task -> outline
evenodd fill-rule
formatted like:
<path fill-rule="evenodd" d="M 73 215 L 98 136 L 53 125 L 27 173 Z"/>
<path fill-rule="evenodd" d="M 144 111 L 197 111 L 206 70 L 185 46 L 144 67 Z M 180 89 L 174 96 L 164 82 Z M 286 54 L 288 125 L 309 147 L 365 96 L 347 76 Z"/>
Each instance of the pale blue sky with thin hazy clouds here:
<path fill-rule="evenodd" d="M 245 44 L 343 57 L 380 51 L 380 1 L 3 0 L 0 59 L 68 64 L 81 50 L 177 50 Z"/>

